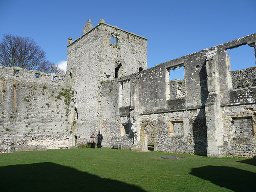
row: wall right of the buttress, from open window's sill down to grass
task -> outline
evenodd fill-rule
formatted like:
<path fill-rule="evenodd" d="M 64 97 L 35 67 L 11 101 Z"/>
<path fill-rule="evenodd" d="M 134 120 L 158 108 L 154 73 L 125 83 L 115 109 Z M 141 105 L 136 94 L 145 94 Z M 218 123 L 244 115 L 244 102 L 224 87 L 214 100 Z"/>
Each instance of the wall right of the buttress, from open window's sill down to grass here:
<path fill-rule="evenodd" d="M 253 158 L 256 156 L 256 89 L 229 92 L 230 103 L 222 108 L 227 156 Z"/>

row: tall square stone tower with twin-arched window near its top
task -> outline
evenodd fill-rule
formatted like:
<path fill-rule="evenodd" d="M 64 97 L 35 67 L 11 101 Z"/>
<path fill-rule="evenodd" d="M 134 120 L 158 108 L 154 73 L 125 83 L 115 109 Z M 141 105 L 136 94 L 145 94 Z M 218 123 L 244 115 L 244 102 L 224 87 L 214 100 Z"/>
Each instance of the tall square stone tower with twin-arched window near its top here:
<path fill-rule="evenodd" d="M 95 27 L 89 19 L 81 37 L 68 39 L 67 77 L 75 92 L 75 139 L 88 139 L 91 132 L 101 130 L 101 83 L 147 69 L 146 54 L 146 38 L 105 24 L 103 19 Z"/>

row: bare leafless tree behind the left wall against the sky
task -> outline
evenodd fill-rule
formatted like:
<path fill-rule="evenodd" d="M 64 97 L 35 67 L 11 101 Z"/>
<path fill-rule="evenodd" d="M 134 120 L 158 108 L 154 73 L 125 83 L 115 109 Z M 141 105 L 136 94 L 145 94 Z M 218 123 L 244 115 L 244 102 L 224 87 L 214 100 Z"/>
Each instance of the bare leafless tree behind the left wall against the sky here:
<path fill-rule="evenodd" d="M 0 63 L 5 67 L 20 67 L 28 70 L 65 74 L 53 62 L 47 60 L 46 52 L 29 37 L 4 34 L 0 42 Z"/>

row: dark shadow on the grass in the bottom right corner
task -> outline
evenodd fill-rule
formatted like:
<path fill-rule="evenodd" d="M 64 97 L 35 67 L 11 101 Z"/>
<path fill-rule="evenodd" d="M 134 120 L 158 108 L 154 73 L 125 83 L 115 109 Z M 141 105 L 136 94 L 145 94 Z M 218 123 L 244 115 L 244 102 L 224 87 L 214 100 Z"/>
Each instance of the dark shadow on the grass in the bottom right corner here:
<path fill-rule="evenodd" d="M 256 174 L 227 166 L 204 166 L 192 168 L 191 175 L 233 191 L 255 191 Z"/>

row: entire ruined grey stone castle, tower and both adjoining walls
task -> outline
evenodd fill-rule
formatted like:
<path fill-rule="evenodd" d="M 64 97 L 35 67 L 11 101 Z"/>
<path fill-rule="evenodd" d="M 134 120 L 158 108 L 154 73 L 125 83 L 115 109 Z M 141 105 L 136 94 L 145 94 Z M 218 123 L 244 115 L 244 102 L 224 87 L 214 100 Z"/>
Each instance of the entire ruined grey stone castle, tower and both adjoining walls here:
<path fill-rule="evenodd" d="M 66 76 L 0 66 L 0 151 L 102 146 L 210 157 L 256 156 L 256 67 L 228 49 L 256 33 L 147 69 L 147 39 L 100 19 L 68 39 Z M 184 71 L 172 79 L 170 71 Z"/>

